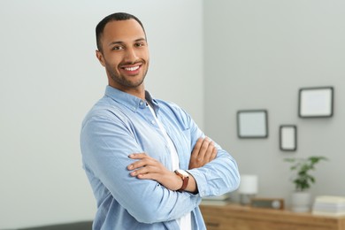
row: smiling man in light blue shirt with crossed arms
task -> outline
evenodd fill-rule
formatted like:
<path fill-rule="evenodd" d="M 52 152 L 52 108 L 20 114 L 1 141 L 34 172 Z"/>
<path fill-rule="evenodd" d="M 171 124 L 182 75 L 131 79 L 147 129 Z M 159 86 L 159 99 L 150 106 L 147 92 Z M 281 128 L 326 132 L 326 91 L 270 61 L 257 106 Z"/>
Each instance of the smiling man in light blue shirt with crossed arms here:
<path fill-rule="evenodd" d="M 239 185 L 237 165 L 186 111 L 144 88 L 149 50 L 142 22 L 127 13 L 96 27 L 96 57 L 109 86 L 80 134 L 96 196 L 94 229 L 205 229 L 198 204 Z"/>

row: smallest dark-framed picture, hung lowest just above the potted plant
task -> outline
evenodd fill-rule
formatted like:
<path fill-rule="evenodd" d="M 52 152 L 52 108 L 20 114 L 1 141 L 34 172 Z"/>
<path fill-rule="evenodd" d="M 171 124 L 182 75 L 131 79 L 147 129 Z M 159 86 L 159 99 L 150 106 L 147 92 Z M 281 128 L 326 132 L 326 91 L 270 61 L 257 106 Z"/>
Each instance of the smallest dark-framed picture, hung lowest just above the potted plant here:
<path fill-rule="evenodd" d="M 280 126 L 280 150 L 295 151 L 297 149 L 297 127 L 293 125 Z"/>

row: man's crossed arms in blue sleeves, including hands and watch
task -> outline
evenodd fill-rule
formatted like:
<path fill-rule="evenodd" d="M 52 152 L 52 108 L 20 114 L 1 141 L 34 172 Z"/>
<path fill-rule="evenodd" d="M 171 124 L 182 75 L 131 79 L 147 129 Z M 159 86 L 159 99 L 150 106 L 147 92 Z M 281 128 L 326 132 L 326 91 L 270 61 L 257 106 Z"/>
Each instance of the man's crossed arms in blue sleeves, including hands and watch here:
<path fill-rule="evenodd" d="M 137 221 L 162 222 L 195 210 L 203 196 L 221 195 L 238 187 L 234 158 L 208 138 L 197 139 L 203 133 L 194 122 L 188 122 L 185 131 L 175 132 L 181 133 L 175 136 L 180 138 L 175 139 L 176 148 L 184 156 L 180 167 L 191 175 L 186 192 L 180 193 L 176 190 L 182 181 L 168 169 L 171 160 L 164 153 L 164 142 L 152 142 L 159 135 L 137 139 L 126 118 L 101 115 L 86 119 L 81 132 L 83 164 L 97 206 L 112 197 L 111 205 L 119 205 Z"/>

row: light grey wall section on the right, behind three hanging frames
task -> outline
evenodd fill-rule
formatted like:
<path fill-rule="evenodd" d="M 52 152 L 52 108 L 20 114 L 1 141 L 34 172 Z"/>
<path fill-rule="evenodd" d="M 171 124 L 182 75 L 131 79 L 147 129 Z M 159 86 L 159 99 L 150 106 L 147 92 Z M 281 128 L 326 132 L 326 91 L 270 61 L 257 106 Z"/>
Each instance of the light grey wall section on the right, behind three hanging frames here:
<path fill-rule="evenodd" d="M 206 131 L 254 173 L 259 194 L 293 190 L 285 157 L 324 155 L 311 193 L 345 196 L 345 2 L 342 0 L 204 1 Z M 298 90 L 334 86 L 334 117 L 299 119 Z M 239 139 L 236 112 L 266 109 L 269 137 Z M 280 151 L 279 126 L 297 126 L 298 149 Z M 238 196 L 233 196 L 238 199 Z"/>

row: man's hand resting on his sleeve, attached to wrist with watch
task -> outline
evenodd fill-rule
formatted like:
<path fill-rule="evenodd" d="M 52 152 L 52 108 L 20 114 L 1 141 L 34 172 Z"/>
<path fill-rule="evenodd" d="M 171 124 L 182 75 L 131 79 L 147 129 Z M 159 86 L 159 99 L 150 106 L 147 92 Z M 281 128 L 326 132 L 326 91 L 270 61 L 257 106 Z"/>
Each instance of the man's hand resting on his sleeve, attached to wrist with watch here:
<path fill-rule="evenodd" d="M 149 157 L 145 153 L 134 153 L 129 155 L 131 159 L 138 159 L 127 169 L 132 171 L 131 176 L 138 179 L 156 180 L 165 188 L 170 190 L 178 190 L 182 187 L 182 180 L 178 175 L 169 171 L 158 162 L 155 158 Z"/>

